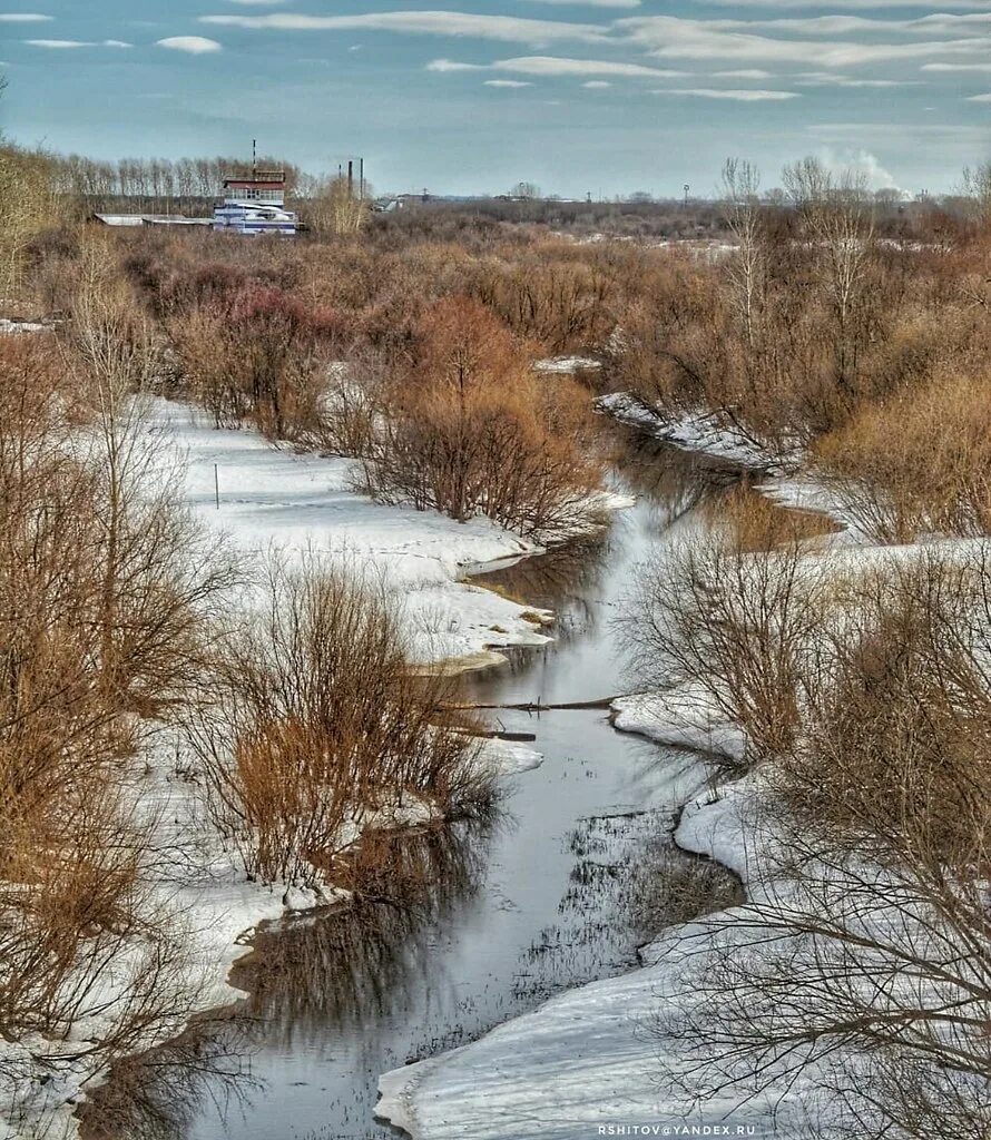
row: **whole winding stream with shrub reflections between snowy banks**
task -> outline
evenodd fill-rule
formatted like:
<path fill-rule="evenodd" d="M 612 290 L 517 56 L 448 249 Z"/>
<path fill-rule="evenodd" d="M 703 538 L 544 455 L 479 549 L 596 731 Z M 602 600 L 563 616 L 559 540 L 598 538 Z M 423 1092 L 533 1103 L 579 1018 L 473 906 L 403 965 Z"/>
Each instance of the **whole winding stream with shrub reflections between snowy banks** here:
<path fill-rule="evenodd" d="M 470 678 L 480 703 L 628 690 L 611 619 L 645 559 L 708 524 L 732 475 L 616 438 L 618 486 L 637 505 L 596 539 L 479 579 L 557 614 L 551 645 Z M 669 831 L 705 783 L 700 762 L 616 732 L 606 708 L 492 717 L 534 733 L 542 766 L 507 781 L 490 817 L 387 840 L 375 857 L 389 872 L 360 904 L 261 934 L 235 977 L 251 995 L 120 1066 L 86 1110 L 91 1137 L 396 1137 L 374 1116 L 382 1072 L 632 968 L 639 945 L 688 917 L 666 913 L 657 888 L 689 858 Z M 716 906 L 736 887 L 713 874 L 712 889 Z"/>

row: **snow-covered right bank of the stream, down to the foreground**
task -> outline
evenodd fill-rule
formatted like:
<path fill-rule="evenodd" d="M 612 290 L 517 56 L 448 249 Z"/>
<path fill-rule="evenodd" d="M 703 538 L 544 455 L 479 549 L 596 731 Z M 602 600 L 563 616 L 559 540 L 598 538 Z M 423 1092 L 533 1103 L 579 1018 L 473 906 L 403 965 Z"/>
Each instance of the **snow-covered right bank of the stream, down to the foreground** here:
<path fill-rule="evenodd" d="M 864 567 L 882 571 L 886 562 L 903 564 L 927 549 L 950 559 L 967 555 L 978 542 L 934 538 L 879 547 L 870 545 L 811 480 L 791 477 L 755 489 L 779 505 L 815 510 L 843 523 L 842 534 L 810 555 L 819 570 L 829 565 L 840 577 Z M 622 732 L 710 756 L 723 765 L 740 766 L 744 759 L 741 728 L 707 708 L 697 693 L 623 698 L 614 702 L 612 723 Z M 742 779 L 724 775 L 685 805 L 674 839 L 681 848 L 734 871 L 748 905 L 765 907 L 773 921 L 778 909 L 787 914 L 789 906 L 810 904 L 796 902 L 798 888 L 767 812 L 770 803 L 760 769 Z M 861 873 L 883 871 L 868 862 Z M 830 891 L 838 894 L 843 882 L 827 872 L 821 886 L 820 905 L 826 909 L 817 913 L 827 927 Z M 838 897 L 834 903 L 842 909 Z M 866 918 L 866 936 L 872 923 L 884 929 L 886 920 L 883 913 Z M 713 991 L 702 996 L 700 982 L 708 979 L 717 991 L 714 970 L 730 976 L 728 961 L 752 955 L 761 960 L 766 953 L 762 935 L 771 943 L 774 930 L 755 929 L 758 921 L 753 910 L 728 910 L 667 929 L 644 948 L 641 969 L 569 992 L 463 1049 L 383 1074 L 377 1110 L 414 1140 L 466 1134 L 473 1140 L 537 1134 L 578 1140 L 612 1126 L 667 1135 L 682 1134 L 680 1127 L 729 1127 L 726 1134 L 798 1140 L 807 1135 L 811 1119 L 834 1119 L 836 1108 L 826 1090 L 829 1077 L 837 1075 L 830 1066 L 842 1060 L 831 1050 L 797 1077 L 787 1060 L 772 1064 L 765 1058 L 760 1072 L 737 1072 L 728 1080 L 732 1061 L 720 1057 L 715 1044 L 706 1056 L 700 1044 L 725 1041 L 728 1032 L 723 1028 L 721 1037 L 712 1021 L 721 1016 L 718 1010 L 714 1015 L 714 1007 L 723 999 Z M 726 1005 L 731 999 L 726 994 Z"/>

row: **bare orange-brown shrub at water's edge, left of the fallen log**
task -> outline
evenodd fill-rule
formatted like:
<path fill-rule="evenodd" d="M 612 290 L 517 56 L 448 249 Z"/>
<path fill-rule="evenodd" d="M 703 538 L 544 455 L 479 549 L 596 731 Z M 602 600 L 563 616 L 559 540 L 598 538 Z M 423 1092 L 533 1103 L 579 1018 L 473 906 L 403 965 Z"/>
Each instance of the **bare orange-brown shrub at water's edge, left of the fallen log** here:
<path fill-rule="evenodd" d="M 447 809 L 484 782 L 448 690 L 411 668 L 381 587 L 273 560 L 263 612 L 222 641 L 189 725 L 249 872 L 311 882 L 356 838 L 351 821 L 411 799 Z"/>

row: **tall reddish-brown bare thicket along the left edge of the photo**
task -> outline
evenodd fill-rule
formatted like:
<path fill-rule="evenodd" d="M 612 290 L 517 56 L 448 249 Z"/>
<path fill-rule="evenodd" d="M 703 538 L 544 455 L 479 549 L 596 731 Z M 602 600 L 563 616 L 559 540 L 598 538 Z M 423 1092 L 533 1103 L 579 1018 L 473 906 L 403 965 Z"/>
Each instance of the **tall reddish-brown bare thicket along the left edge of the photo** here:
<path fill-rule="evenodd" d="M 96 1018 L 74 1052 L 98 1067 L 189 1001 L 176 919 L 143 886 L 130 755 L 132 714 L 176 691 L 170 632 L 195 598 L 164 506 L 131 487 L 109 507 L 88 394 L 50 340 L 0 339 L 0 1033 Z"/>

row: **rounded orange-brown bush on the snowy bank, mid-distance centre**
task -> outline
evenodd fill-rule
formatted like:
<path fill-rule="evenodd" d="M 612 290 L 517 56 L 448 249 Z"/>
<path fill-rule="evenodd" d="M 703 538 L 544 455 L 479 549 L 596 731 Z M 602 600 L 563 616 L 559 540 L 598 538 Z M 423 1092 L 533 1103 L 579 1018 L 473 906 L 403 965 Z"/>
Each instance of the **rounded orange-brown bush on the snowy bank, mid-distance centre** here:
<path fill-rule="evenodd" d="M 379 392 L 362 457 L 368 492 L 460 521 L 484 514 L 523 534 L 574 526 L 601 471 L 587 394 L 535 375 L 477 302 L 439 302 L 417 333 L 412 366 Z"/>

